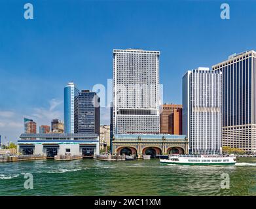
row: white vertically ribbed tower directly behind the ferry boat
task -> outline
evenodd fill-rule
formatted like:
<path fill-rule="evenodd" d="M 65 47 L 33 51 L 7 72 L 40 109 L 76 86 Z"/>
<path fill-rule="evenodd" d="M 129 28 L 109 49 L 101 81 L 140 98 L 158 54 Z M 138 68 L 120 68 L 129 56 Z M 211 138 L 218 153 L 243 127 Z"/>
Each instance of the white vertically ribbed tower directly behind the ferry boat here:
<path fill-rule="evenodd" d="M 189 153 L 221 153 L 221 85 L 221 72 L 209 68 L 183 76 L 182 130 L 189 138 Z"/>

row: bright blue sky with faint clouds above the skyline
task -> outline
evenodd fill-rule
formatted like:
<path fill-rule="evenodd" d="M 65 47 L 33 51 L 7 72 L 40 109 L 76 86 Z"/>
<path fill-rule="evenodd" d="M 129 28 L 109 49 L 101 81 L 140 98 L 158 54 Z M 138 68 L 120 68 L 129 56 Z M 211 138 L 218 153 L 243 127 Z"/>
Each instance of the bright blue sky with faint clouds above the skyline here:
<path fill-rule="evenodd" d="M 33 20 L 24 5 L 33 5 Z M 229 3 L 230 19 L 221 19 Z M 16 142 L 24 117 L 64 120 L 64 87 L 112 78 L 113 49 L 160 51 L 164 103 L 181 104 L 182 76 L 256 50 L 256 1 L 0 1 L 0 135 Z M 101 108 L 101 124 L 109 108 Z"/>

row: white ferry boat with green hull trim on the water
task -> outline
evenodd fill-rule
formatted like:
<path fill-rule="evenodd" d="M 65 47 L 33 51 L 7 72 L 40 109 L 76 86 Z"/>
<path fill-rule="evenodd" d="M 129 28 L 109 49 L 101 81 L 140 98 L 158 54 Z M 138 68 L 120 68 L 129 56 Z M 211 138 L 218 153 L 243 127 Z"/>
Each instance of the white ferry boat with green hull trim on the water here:
<path fill-rule="evenodd" d="M 161 159 L 160 163 L 175 165 L 235 165 L 235 156 L 224 155 L 169 155 L 168 159 Z"/>

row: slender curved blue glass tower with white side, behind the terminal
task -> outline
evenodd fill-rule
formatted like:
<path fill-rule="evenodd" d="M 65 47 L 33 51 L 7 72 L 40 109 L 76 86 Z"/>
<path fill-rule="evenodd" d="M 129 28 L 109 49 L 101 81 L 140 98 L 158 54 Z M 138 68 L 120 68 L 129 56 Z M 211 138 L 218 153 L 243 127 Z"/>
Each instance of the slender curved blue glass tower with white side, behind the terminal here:
<path fill-rule="evenodd" d="M 64 131 L 65 133 L 78 132 L 78 97 L 79 89 L 73 82 L 64 88 Z"/>

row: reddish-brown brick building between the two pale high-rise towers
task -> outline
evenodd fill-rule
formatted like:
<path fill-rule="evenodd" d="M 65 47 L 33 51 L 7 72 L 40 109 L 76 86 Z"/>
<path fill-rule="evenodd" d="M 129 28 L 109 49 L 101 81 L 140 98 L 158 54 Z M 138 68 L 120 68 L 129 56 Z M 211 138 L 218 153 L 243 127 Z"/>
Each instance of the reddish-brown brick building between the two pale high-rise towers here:
<path fill-rule="evenodd" d="M 182 105 L 161 105 L 160 133 L 182 135 Z"/>

